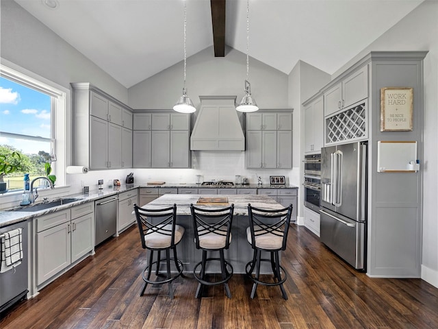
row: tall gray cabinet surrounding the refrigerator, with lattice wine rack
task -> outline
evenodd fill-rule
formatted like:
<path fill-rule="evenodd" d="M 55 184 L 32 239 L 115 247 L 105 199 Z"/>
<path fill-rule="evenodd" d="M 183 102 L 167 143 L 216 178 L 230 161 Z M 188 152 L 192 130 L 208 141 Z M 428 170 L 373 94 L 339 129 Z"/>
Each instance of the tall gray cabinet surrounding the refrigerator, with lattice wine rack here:
<path fill-rule="evenodd" d="M 324 145 L 368 140 L 366 271 L 373 277 L 421 277 L 422 167 L 416 172 L 378 172 L 377 145 L 378 141 L 416 141 L 416 159 L 423 163 L 426 54 L 372 51 L 320 90 Z M 413 88 L 412 131 L 381 131 L 381 88 L 385 87 Z"/>

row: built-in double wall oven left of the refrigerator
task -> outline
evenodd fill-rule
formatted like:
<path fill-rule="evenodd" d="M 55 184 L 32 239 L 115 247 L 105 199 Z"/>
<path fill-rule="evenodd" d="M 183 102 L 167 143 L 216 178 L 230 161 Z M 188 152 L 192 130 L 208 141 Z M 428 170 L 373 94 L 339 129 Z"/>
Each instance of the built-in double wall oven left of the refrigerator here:
<path fill-rule="evenodd" d="M 321 154 L 309 154 L 304 160 L 304 205 L 320 212 Z"/>

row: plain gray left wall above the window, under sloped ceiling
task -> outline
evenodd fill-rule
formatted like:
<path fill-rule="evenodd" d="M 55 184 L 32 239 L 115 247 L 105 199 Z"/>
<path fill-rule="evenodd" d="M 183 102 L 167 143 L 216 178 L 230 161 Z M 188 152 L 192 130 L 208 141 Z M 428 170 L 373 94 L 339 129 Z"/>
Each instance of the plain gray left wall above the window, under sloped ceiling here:
<path fill-rule="evenodd" d="M 2 58 L 68 89 L 70 82 L 90 82 L 127 103 L 124 86 L 16 2 L 1 0 L 0 24 Z"/>

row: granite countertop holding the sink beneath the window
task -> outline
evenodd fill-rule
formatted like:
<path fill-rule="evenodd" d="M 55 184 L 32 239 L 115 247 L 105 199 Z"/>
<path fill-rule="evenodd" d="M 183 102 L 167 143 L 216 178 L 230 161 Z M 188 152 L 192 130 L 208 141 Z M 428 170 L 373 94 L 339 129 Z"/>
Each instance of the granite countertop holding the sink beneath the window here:
<path fill-rule="evenodd" d="M 79 204 L 85 204 L 86 202 L 94 202 L 98 199 L 103 199 L 104 197 L 110 197 L 111 195 L 118 195 L 119 193 L 123 193 L 126 191 L 133 190 L 135 188 L 138 188 L 138 185 L 123 185 L 123 186 L 117 186 L 114 188 L 103 188 L 102 190 L 94 190 L 90 191 L 89 194 L 73 194 L 73 195 L 64 195 L 62 197 L 53 197 L 47 200 L 47 202 L 51 202 L 56 199 L 65 199 L 65 198 L 74 198 L 77 199 L 75 202 L 70 202 L 68 204 L 63 204 L 61 206 L 54 206 L 52 208 L 47 208 L 43 210 L 37 210 L 37 211 L 20 211 L 20 207 L 12 208 L 10 210 L 1 210 L 0 211 L 0 228 L 3 226 L 12 225 L 14 223 L 19 223 L 21 221 L 26 221 L 27 219 L 31 219 L 35 216 L 41 216 L 49 214 L 50 212 L 55 212 L 62 209 L 71 208 L 73 206 L 78 206 Z M 41 201 L 38 199 L 38 202 L 35 204 L 43 204 L 42 198 Z M 17 210 L 14 210 L 17 209 Z"/>

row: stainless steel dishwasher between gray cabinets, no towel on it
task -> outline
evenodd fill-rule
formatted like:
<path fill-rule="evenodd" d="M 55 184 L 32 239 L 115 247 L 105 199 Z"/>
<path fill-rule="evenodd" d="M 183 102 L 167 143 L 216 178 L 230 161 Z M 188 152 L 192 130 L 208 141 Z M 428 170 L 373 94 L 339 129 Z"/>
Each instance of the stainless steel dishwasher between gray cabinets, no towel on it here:
<path fill-rule="evenodd" d="M 118 197 L 105 197 L 94 202 L 96 212 L 96 240 L 94 245 L 116 234 Z"/>

